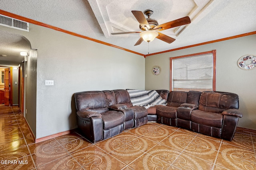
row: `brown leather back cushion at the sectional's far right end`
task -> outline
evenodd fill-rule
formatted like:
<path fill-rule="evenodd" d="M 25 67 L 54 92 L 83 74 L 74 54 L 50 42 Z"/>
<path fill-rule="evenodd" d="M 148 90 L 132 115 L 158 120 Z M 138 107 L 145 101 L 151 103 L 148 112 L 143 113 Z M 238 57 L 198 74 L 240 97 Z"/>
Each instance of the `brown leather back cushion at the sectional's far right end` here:
<path fill-rule="evenodd" d="M 199 100 L 199 110 L 221 113 L 226 109 L 238 109 L 239 98 L 237 94 L 228 92 L 206 91 L 202 92 Z"/>

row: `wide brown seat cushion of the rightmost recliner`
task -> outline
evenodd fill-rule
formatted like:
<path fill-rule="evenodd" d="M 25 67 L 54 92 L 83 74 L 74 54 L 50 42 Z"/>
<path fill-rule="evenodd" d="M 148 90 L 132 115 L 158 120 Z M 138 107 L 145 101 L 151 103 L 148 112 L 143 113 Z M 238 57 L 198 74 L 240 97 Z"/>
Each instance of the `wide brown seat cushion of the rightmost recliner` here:
<path fill-rule="evenodd" d="M 193 110 L 190 119 L 194 123 L 207 125 L 210 127 L 222 128 L 223 115 L 220 113 L 212 113 L 201 110 Z"/>

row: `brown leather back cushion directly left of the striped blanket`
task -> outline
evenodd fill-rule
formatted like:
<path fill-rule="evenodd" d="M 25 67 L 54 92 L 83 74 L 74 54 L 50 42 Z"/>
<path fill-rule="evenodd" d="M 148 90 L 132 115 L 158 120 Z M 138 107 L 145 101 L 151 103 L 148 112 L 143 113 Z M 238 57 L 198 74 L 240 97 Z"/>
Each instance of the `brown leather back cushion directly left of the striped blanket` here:
<path fill-rule="evenodd" d="M 113 90 L 116 96 L 116 104 L 124 104 L 127 107 L 132 107 L 130 95 L 127 90 Z"/>

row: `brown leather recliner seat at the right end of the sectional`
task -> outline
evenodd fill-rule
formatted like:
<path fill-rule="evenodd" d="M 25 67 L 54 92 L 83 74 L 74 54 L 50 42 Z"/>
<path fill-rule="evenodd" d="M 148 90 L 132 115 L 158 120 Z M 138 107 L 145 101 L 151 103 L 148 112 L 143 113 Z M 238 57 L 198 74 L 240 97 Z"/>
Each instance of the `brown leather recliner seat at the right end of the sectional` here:
<path fill-rule="evenodd" d="M 202 92 L 198 109 L 191 112 L 191 130 L 231 141 L 236 131 L 239 98 L 228 92 Z"/>

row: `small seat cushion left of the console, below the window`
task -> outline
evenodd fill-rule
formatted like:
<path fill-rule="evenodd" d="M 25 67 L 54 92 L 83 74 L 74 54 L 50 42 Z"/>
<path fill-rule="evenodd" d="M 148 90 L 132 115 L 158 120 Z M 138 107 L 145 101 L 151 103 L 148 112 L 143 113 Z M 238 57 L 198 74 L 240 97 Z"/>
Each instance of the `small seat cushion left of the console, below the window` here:
<path fill-rule="evenodd" d="M 160 117 L 166 117 L 171 119 L 177 118 L 177 107 L 169 107 L 169 106 L 158 106 L 156 108 L 156 115 Z"/>

